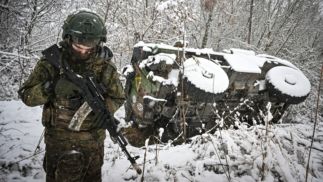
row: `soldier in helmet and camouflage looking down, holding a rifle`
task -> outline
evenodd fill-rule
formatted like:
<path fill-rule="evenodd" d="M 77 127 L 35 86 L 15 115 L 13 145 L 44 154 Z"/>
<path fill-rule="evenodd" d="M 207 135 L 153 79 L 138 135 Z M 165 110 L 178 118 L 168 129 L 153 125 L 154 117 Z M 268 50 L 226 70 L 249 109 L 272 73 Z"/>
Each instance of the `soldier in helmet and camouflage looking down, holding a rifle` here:
<path fill-rule="evenodd" d="M 103 94 L 113 114 L 124 103 L 124 92 L 117 68 L 111 61 L 111 50 L 102 46 L 107 41 L 104 21 L 90 11 L 74 12 L 63 25 L 62 57 L 71 70 L 85 78 L 93 76 L 96 84 L 102 83 Z M 30 107 L 42 105 L 42 124 L 45 126 L 46 153 L 43 167 L 46 181 L 101 181 L 106 130 L 100 129 L 106 115 L 92 111 L 84 120 L 79 132 L 68 124 L 79 107 L 70 107 L 70 97 L 82 89 L 42 57 L 36 64 L 18 94 Z M 74 109 L 74 110 L 73 110 Z M 100 123 L 95 125 L 94 123 Z"/>

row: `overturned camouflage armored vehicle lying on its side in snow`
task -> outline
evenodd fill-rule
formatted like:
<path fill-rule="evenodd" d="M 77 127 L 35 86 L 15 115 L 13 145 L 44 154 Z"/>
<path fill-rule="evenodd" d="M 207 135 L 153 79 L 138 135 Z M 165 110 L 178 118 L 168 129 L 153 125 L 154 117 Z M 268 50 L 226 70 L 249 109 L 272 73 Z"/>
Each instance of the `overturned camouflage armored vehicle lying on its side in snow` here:
<path fill-rule="evenodd" d="M 250 122 L 267 108 L 276 123 L 290 104 L 309 94 L 309 80 L 286 60 L 242 49 L 182 50 L 139 42 L 123 69 L 126 120 L 162 127 L 165 139 L 182 132 L 183 112 L 186 131 L 193 134 L 219 122 L 227 127 L 234 119 Z"/>

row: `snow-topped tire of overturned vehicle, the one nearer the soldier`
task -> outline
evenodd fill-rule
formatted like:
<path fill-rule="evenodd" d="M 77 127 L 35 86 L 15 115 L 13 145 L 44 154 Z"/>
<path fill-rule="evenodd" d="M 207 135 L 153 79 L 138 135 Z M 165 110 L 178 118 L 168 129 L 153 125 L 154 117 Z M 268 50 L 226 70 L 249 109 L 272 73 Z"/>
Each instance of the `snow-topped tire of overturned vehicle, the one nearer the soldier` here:
<path fill-rule="evenodd" d="M 183 89 L 189 97 L 201 102 L 217 102 L 228 86 L 227 74 L 213 61 L 189 58 L 184 62 Z"/>

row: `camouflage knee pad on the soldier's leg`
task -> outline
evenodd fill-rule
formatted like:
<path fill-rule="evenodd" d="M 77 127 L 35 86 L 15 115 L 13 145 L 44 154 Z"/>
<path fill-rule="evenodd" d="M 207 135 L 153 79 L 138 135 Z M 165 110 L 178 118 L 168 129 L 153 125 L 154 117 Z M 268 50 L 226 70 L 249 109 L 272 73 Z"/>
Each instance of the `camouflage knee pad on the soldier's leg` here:
<path fill-rule="evenodd" d="M 75 150 L 62 152 L 57 159 L 56 181 L 75 182 L 81 178 L 84 155 Z"/>

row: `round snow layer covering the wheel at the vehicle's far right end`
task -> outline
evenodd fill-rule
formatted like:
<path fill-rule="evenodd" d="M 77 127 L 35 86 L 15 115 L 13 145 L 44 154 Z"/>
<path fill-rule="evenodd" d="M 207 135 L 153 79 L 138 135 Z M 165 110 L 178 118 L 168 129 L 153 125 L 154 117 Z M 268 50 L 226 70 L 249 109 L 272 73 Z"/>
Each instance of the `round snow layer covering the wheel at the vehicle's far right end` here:
<path fill-rule="evenodd" d="M 266 80 L 269 80 L 276 89 L 290 96 L 302 97 L 311 90 L 309 80 L 301 71 L 286 66 L 277 66 L 269 70 Z"/>

